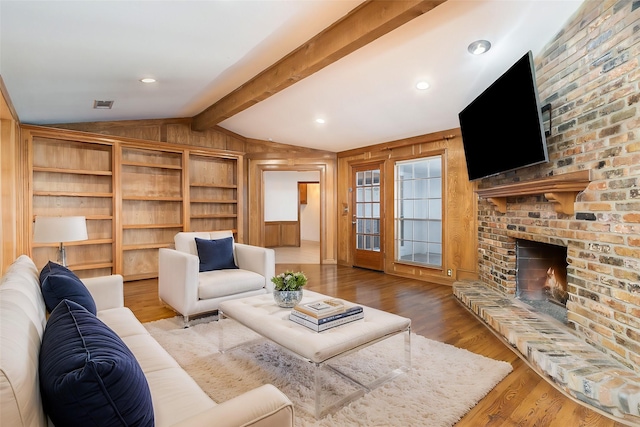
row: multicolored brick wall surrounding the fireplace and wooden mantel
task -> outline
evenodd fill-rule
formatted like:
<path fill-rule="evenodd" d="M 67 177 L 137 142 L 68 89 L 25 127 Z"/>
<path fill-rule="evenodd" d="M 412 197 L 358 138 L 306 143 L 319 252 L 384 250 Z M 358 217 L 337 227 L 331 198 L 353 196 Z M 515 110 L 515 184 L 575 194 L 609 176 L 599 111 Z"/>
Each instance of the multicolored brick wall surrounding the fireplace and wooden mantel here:
<path fill-rule="evenodd" d="M 483 199 L 478 206 L 481 280 L 515 293 L 516 238 L 567 246 L 570 326 L 637 372 L 639 59 L 640 0 L 586 0 L 536 57 L 540 99 L 552 105 L 550 162 L 479 184 L 487 188 L 591 170 L 576 213 L 556 213 L 543 195 L 509 198 L 506 214 Z"/>

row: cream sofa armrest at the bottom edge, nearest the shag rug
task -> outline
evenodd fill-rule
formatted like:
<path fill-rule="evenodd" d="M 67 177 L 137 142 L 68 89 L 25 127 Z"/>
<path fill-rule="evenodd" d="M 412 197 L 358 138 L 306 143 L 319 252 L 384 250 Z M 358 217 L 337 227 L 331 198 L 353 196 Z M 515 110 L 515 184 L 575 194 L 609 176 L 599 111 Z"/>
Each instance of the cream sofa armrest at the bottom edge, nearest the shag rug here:
<path fill-rule="evenodd" d="M 293 404 L 265 384 L 178 423 L 175 427 L 293 427 Z"/>

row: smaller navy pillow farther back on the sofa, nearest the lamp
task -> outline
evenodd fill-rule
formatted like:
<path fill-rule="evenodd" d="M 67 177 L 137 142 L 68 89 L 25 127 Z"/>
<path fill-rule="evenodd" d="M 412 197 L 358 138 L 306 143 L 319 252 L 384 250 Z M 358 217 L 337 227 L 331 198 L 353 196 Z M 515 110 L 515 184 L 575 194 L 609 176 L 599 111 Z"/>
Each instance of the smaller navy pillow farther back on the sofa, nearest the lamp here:
<path fill-rule="evenodd" d="M 74 301 L 96 314 L 96 303 L 89 289 L 75 273 L 55 262 L 49 261 L 40 271 L 40 289 L 44 305 L 51 313 L 64 299 Z"/>

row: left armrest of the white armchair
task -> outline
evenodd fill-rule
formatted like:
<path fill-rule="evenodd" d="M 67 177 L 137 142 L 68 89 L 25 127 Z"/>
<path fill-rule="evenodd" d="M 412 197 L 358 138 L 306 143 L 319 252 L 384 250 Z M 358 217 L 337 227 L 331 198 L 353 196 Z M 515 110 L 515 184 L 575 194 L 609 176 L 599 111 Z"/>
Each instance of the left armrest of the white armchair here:
<path fill-rule="evenodd" d="M 198 302 L 197 255 L 161 248 L 158 253 L 158 296 L 179 313 L 191 313 Z"/>

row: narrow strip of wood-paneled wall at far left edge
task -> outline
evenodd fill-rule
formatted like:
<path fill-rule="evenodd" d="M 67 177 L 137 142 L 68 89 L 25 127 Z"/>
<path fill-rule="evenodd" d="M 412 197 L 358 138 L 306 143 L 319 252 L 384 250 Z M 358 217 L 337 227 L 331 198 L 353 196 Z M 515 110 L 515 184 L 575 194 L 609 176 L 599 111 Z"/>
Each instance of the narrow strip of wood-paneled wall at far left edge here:
<path fill-rule="evenodd" d="M 24 160 L 20 152 L 20 123 L 0 77 L 0 273 L 25 253 L 21 234 Z"/>

